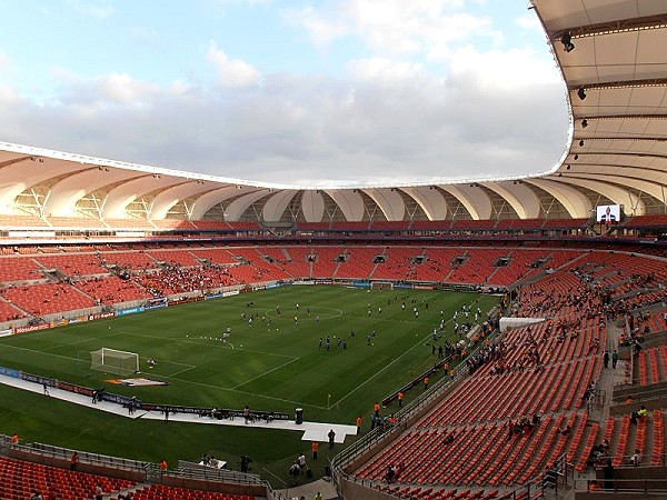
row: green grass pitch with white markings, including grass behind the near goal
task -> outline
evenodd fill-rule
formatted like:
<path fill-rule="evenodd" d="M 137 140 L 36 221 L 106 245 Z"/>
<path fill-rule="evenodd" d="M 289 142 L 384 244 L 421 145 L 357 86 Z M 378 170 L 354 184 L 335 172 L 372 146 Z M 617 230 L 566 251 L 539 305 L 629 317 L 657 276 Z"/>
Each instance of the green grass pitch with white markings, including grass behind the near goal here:
<path fill-rule="evenodd" d="M 253 306 L 248 307 L 250 301 Z M 498 298 L 292 286 L 2 338 L 0 364 L 87 387 L 103 386 L 145 402 L 239 409 L 248 404 L 290 414 L 303 408 L 306 420 L 354 424 L 357 414 L 368 422 L 375 401 L 432 366 L 430 339 L 440 311 L 449 320 L 446 338 L 451 339 L 454 311 L 472 302 L 486 312 Z M 420 311 L 417 319 L 414 306 Z M 227 327 L 231 337 L 223 342 Z M 367 334 L 374 330 L 368 344 Z M 332 340 L 329 353 L 318 348 L 320 337 L 327 336 Z M 347 342 L 347 350 L 337 347 L 338 338 Z M 90 351 L 102 347 L 138 352 L 142 374 L 169 384 L 128 388 L 106 382 L 115 376 L 90 370 Z M 148 368 L 148 358 L 157 361 L 155 368 Z M 412 391 L 406 400 L 419 389 Z M 170 463 L 207 452 L 237 469 L 239 457 L 250 454 L 252 472 L 272 482 L 276 477 L 287 481 L 293 458 L 300 451 L 309 456 L 310 449 L 297 432 L 129 420 L 4 386 L 0 386 L 0 432 L 140 460 L 166 457 Z M 319 463 L 310 464 L 316 477 L 323 472 L 325 448 Z"/>

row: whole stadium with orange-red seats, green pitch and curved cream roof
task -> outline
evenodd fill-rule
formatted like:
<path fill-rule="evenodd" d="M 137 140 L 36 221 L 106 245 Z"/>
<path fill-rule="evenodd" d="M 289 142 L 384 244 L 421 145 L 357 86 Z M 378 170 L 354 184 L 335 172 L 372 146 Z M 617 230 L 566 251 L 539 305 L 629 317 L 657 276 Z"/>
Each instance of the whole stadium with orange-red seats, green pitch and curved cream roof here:
<path fill-rule="evenodd" d="M 569 111 L 546 173 L 0 143 L 0 498 L 665 498 L 667 6 L 530 9 Z"/>

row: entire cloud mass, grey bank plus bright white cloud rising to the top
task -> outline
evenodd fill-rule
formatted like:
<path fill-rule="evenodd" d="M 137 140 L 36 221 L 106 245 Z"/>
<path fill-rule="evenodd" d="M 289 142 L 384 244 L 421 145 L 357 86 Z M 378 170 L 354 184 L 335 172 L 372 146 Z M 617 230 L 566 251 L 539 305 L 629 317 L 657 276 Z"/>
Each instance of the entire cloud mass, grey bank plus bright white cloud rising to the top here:
<path fill-rule="evenodd" d="M 215 84 L 51 68 L 58 88 L 39 101 L 0 86 L 0 138 L 283 183 L 518 176 L 560 157 L 568 116 L 548 53 L 475 48 L 474 37 L 499 36 L 490 19 L 461 12 L 462 0 L 325 4 L 292 20 L 321 43 L 354 36 L 372 49 L 341 76 L 260 73 L 215 41 Z"/>

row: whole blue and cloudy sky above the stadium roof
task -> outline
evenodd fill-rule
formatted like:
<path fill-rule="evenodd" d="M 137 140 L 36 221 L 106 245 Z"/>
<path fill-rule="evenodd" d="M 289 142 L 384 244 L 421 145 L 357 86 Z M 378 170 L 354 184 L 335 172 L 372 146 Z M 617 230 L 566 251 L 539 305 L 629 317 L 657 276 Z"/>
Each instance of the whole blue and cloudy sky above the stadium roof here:
<path fill-rule="evenodd" d="M 526 0 L 0 0 L 0 141 L 326 187 L 544 172 Z"/>

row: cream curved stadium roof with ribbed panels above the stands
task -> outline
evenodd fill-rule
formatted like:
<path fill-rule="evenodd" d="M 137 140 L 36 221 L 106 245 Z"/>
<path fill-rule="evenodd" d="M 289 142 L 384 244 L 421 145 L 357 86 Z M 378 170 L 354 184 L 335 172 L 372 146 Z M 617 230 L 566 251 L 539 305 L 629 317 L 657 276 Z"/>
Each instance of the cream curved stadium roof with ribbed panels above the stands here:
<path fill-rule="evenodd" d="M 566 153 L 547 173 L 316 189 L 0 143 L 0 213 L 267 223 L 589 218 L 608 203 L 630 216 L 666 213 L 667 1 L 532 0 L 531 8 L 571 117 Z"/>

